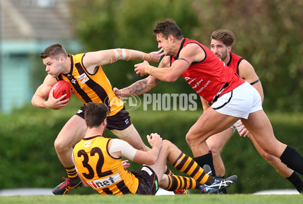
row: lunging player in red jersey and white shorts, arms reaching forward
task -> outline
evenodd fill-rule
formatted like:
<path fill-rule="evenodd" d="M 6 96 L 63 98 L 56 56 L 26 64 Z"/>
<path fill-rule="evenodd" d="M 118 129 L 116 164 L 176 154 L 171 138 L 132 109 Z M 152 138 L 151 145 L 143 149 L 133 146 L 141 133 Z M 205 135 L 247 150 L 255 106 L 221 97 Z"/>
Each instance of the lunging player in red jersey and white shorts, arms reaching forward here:
<path fill-rule="evenodd" d="M 182 76 L 197 94 L 212 103 L 185 137 L 199 166 L 208 164 L 216 174 L 206 140 L 241 119 L 267 154 L 279 158 L 288 168 L 303 175 L 302 156 L 275 138 L 272 125 L 263 111 L 261 96 L 254 87 L 228 68 L 205 45 L 184 38 L 172 19 L 157 22 L 154 36 L 158 47 L 164 50 L 165 57 L 160 66 L 153 67 L 147 62 L 135 65 L 137 74 L 149 76 L 124 89 L 114 89 L 116 93 L 142 94 L 159 80 L 174 82 Z M 134 85 L 141 89 L 137 90 Z"/>

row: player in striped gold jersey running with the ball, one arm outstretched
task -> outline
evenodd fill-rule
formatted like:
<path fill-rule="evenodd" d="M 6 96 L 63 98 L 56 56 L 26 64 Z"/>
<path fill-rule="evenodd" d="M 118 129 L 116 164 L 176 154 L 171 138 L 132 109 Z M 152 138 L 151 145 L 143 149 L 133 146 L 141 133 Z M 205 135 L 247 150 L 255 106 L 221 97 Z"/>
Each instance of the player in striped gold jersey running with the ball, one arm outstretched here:
<path fill-rule="evenodd" d="M 41 109 L 59 109 L 65 107 L 68 99 L 48 96 L 53 85 L 57 81 L 66 80 L 75 94 L 84 104 L 90 101 L 104 103 L 110 109 L 108 117 L 108 129 L 117 137 L 127 141 L 137 149 L 147 151 L 139 133 L 130 121 L 124 103 L 114 94 L 112 86 L 103 72 L 102 65 L 111 64 L 118 60 L 146 60 L 159 62 L 163 55 L 162 49 L 149 54 L 132 49 L 108 49 L 99 50 L 78 55 L 70 55 L 61 44 L 48 46 L 40 57 L 46 66 L 47 76 L 37 88 L 32 98 L 32 104 Z M 113 101 L 119 101 L 114 103 Z M 65 194 L 72 188 L 82 185 L 72 162 L 72 146 L 85 135 L 86 125 L 84 112 L 80 109 L 62 128 L 55 140 L 55 149 L 58 157 L 65 167 L 68 178 L 59 184 L 54 194 Z"/>

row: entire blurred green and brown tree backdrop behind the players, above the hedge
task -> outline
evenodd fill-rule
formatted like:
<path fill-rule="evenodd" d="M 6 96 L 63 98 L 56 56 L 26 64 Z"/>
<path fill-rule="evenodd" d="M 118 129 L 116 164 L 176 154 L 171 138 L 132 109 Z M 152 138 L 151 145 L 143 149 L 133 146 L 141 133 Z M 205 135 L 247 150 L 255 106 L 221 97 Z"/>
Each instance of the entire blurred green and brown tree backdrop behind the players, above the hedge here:
<path fill-rule="evenodd" d="M 205 45 L 209 45 L 214 30 L 229 29 L 236 36 L 232 52 L 250 62 L 262 81 L 264 107 L 303 110 L 300 0 L 74 0 L 72 5 L 75 30 L 85 52 L 116 47 L 157 50 L 151 37 L 154 24 L 166 18 L 176 21 L 184 37 Z M 124 87 L 141 79 L 133 72 L 135 63 L 105 66 L 111 67 L 105 70 L 114 86 Z M 191 91 L 185 84 L 178 80 L 154 91 Z"/>

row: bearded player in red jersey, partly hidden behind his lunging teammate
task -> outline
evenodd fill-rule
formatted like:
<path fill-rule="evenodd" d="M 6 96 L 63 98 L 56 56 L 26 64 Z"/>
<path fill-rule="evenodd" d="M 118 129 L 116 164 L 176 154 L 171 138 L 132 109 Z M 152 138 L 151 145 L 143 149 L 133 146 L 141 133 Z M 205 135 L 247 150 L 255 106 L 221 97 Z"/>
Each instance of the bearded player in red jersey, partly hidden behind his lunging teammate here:
<path fill-rule="evenodd" d="M 263 88 L 259 77 L 257 76 L 254 67 L 252 67 L 246 60 L 242 57 L 231 53 L 232 43 L 235 40 L 234 34 L 229 30 L 219 29 L 212 33 L 211 35 L 211 51 L 220 58 L 229 68 L 236 72 L 240 78 L 244 79 L 250 85 L 254 86 L 263 101 Z M 203 109 L 206 111 L 210 106 L 209 102 L 201 97 L 203 104 Z M 206 142 L 209 145 L 214 159 L 214 167 L 216 171 L 216 176 L 224 178 L 225 168 L 220 156 L 226 142 L 230 139 L 231 135 L 234 133 L 235 129 L 239 132 L 240 136 L 249 136 L 252 143 L 254 143 L 256 149 L 260 155 L 271 164 L 276 171 L 285 177 L 289 182 L 291 182 L 298 192 L 303 192 L 303 181 L 293 170 L 289 169 L 285 164 L 283 164 L 279 158 L 267 154 L 256 142 L 254 137 L 249 134 L 249 131 L 240 124 L 241 121 L 238 120 L 234 125 L 226 130 L 219 132 L 215 135 L 209 137 Z M 223 191 L 224 192 L 224 191 Z M 227 191 L 225 191 L 227 192 Z"/>

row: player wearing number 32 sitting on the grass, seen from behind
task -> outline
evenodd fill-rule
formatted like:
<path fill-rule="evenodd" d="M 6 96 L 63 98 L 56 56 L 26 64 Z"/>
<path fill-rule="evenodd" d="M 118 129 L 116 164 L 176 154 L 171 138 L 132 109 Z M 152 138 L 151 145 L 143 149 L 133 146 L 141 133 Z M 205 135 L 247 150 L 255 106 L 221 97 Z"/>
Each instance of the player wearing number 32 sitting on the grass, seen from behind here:
<path fill-rule="evenodd" d="M 108 108 L 104 104 L 87 104 L 87 131 L 73 150 L 73 162 L 83 184 L 91 186 L 100 194 L 155 195 L 158 186 L 174 191 L 198 189 L 203 184 L 218 191 L 237 179 L 235 175 L 226 179 L 214 179 L 173 143 L 162 140 L 157 133 L 147 135 L 152 148 L 146 152 L 133 148 L 126 141 L 105 138 L 107 115 Z M 122 163 L 121 157 L 144 164 L 141 171 L 127 171 L 127 164 Z M 164 174 L 167 161 L 192 178 Z"/>

